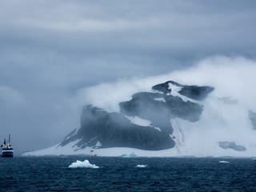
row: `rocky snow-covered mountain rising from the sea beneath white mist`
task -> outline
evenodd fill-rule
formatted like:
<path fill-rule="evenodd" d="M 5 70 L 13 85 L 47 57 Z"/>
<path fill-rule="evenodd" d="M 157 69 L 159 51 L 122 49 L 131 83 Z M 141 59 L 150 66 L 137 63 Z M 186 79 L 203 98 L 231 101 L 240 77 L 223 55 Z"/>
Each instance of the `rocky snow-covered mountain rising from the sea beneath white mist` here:
<path fill-rule="evenodd" d="M 237 131 L 236 126 L 232 128 L 226 119 L 227 108 L 241 110 L 238 102 L 231 98 L 207 99 L 212 91 L 211 86 L 169 81 L 120 102 L 119 112 L 85 106 L 80 129 L 71 131 L 56 146 L 23 155 L 254 156 L 256 142 L 250 138 L 249 142 L 239 142 L 243 135 L 234 137 L 237 134 L 231 133 Z M 254 134 L 256 114 L 252 110 L 246 113 L 238 122 L 247 118 Z M 238 114 L 244 115 L 242 111 Z M 218 137 L 214 131 L 220 131 Z"/>

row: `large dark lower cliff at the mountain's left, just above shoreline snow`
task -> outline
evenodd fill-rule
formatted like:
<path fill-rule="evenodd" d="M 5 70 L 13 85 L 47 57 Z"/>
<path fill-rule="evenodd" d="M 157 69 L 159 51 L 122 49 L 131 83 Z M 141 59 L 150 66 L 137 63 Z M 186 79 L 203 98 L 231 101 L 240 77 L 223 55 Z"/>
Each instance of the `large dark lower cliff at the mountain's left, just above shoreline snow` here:
<path fill-rule="evenodd" d="M 86 106 L 82 112 L 81 129 L 77 134 L 62 142 L 82 138 L 80 147 L 95 146 L 98 141 L 101 147 L 133 147 L 143 150 L 161 150 L 174 146 L 168 134 L 155 130 L 152 126 L 138 126 L 130 122 L 123 114 L 107 113 L 93 106 Z"/>

